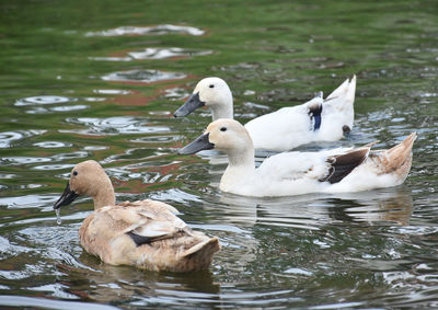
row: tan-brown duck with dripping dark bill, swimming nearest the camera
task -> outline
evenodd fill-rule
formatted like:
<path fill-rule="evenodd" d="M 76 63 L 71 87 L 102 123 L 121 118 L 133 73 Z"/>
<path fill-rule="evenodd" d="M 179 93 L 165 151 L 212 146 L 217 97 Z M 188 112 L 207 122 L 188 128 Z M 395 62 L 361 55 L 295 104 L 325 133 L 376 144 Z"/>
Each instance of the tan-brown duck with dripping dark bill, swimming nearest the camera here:
<path fill-rule="evenodd" d="M 94 200 L 94 213 L 79 230 L 81 244 L 107 264 L 189 272 L 208 268 L 220 249 L 216 237 L 193 231 L 168 204 L 146 199 L 116 205 L 111 180 L 96 161 L 73 168 L 54 208 L 69 205 L 79 195 Z"/>

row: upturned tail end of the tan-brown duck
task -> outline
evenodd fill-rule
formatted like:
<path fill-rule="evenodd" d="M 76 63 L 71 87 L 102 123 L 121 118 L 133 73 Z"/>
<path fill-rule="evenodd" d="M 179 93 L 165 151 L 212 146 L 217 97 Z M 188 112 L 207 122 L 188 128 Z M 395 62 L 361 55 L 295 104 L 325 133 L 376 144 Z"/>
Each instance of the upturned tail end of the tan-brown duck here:
<path fill-rule="evenodd" d="M 199 242 L 181 254 L 182 259 L 187 260 L 196 266 L 196 269 L 205 269 L 211 263 L 212 255 L 220 250 L 219 239 L 209 238 Z"/>

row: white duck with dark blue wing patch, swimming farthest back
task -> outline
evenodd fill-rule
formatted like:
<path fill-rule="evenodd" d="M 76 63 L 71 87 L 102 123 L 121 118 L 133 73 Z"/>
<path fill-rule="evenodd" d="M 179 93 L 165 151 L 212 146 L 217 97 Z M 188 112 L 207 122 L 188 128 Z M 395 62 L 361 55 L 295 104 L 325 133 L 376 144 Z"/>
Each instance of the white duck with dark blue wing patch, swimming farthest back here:
<path fill-rule="evenodd" d="M 346 80 L 325 100 L 321 95 L 301 105 L 283 107 L 245 124 L 255 149 L 287 151 L 313 141 L 336 141 L 351 130 L 356 76 Z M 174 113 L 186 116 L 195 108 L 208 106 L 212 120 L 233 118 L 230 88 L 220 78 L 200 80 L 189 99 Z"/>

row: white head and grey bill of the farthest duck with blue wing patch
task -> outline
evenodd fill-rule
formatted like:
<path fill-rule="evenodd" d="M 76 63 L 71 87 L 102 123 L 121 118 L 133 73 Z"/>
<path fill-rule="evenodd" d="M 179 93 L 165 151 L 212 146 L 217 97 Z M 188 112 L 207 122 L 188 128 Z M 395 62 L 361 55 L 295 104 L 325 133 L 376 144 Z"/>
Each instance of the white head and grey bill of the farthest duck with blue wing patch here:
<path fill-rule="evenodd" d="M 233 117 L 232 93 L 226 81 L 220 78 L 200 80 L 193 94 L 173 115 L 186 116 L 204 105 L 211 110 L 214 120 Z"/>

